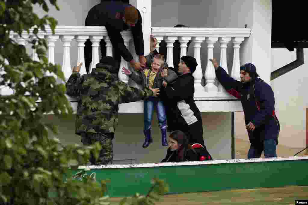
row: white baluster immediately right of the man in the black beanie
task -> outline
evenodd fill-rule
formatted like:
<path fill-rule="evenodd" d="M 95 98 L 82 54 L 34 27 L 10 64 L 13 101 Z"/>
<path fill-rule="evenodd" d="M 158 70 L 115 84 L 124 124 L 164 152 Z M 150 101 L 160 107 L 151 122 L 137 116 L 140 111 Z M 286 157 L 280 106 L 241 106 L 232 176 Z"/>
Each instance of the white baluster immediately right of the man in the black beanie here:
<path fill-rule="evenodd" d="M 193 37 L 193 47 L 194 47 L 194 57 L 197 61 L 197 68 L 193 73 L 193 77 L 195 78 L 195 93 L 196 96 L 199 96 L 200 93 L 203 93 L 203 87 L 201 85 L 202 79 L 202 68 L 201 68 L 201 43 L 205 40 L 205 37 Z M 199 93 L 199 94 L 198 94 Z"/>

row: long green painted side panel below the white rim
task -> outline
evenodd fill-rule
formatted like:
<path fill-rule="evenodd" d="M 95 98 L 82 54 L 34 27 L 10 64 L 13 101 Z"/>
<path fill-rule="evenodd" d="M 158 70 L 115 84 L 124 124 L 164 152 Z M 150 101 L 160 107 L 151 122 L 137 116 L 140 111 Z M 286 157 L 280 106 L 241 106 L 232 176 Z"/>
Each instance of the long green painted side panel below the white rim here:
<path fill-rule="evenodd" d="M 170 193 L 216 191 L 236 188 L 308 185 L 308 160 L 204 164 L 150 168 L 91 169 L 96 180 L 111 179 L 111 197 L 146 194 L 157 177 L 169 184 Z M 80 170 L 78 170 L 80 171 Z M 75 171 L 77 172 L 77 171 Z M 75 173 L 74 172 L 74 173 Z"/>

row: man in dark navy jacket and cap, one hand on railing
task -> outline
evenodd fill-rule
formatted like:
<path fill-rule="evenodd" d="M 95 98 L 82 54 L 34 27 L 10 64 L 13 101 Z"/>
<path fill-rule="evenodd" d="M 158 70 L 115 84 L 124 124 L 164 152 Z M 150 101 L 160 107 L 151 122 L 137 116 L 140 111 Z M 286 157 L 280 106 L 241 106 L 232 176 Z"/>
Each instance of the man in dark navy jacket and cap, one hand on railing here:
<path fill-rule="evenodd" d="M 216 77 L 228 93 L 241 99 L 248 131 L 250 148 L 248 158 L 277 157 L 276 146 L 280 124 L 275 114 L 274 92 L 270 85 L 261 80 L 256 67 L 246 63 L 240 68 L 241 82 L 230 77 L 215 58 L 210 59 Z"/>

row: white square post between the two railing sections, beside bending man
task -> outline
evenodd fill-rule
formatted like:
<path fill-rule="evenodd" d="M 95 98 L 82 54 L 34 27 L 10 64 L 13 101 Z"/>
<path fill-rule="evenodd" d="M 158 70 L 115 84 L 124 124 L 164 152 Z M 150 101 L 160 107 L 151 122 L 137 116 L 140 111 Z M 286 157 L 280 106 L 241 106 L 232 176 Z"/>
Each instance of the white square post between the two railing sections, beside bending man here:
<path fill-rule="evenodd" d="M 152 0 L 135 0 L 131 1 L 141 14 L 142 18 L 142 31 L 144 40 L 144 56 L 150 52 L 150 35 L 151 35 L 151 15 L 152 15 Z"/>

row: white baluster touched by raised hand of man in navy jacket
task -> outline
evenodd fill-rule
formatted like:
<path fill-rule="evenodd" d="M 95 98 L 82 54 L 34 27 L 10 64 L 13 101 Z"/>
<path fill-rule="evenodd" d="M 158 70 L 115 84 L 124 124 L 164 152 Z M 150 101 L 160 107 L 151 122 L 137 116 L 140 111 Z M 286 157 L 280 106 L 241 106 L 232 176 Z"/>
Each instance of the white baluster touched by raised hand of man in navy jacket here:
<path fill-rule="evenodd" d="M 206 42 L 208 44 L 208 59 L 214 57 L 214 43 L 218 40 L 217 37 L 207 37 Z M 205 81 L 206 85 L 204 86 L 205 92 L 217 92 L 218 89 L 214 84 L 216 74 L 215 69 L 211 61 L 207 60 L 207 65 L 205 69 Z"/>

